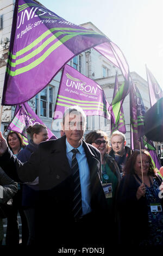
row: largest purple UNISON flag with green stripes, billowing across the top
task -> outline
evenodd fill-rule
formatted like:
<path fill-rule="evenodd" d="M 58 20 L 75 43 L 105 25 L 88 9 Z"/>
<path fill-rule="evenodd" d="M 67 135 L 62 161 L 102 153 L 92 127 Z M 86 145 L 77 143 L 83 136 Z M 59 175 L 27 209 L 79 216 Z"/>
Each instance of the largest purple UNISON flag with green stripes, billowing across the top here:
<path fill-rule="evenodd" d="M 128 77 L 126 59 L 106 36 L 68 22 L 38 2 L 16 0 L 2 105 L 28 101 L 70 59 L 97 45 L 101 45 L 98 51 Z"/>

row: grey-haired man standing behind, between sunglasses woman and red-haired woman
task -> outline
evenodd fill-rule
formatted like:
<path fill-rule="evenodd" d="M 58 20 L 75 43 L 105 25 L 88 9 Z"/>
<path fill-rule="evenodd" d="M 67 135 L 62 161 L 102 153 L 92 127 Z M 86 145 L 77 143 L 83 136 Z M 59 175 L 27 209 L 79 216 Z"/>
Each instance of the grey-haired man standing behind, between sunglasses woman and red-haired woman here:
<path fill-rule="evenodd" d="M 112 133 L 110 141 L 112 149 L 109 155 L 114 157 L 120 169 L 121 176 L 123 176 L 126 161 L 130 156 L 130 148 L 126 146 L 126 137 L 122 132 L 115 131 Z"/>

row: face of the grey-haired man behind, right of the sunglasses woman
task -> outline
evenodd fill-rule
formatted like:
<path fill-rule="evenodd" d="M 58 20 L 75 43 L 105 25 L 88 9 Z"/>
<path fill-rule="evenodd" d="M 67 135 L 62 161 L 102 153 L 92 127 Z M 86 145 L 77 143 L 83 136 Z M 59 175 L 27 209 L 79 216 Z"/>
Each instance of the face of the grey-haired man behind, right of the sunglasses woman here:
<path fill-rule="evenodd" d="M 115 154 L 122 155 L 125 145 L 126 141 L 123 141 L 121 135 L 115 135 L 111 138 L 111 147 Z"/>

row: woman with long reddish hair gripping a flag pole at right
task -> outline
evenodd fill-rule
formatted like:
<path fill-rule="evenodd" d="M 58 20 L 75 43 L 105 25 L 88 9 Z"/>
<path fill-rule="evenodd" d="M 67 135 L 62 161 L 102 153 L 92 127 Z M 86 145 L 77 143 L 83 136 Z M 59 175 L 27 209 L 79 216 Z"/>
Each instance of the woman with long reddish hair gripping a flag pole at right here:
<path fill-rule="evenodd" d="M 126 163 L 118 189 L 121 245 L 163 245 L 162 184 L 148 151 L 136 149 Z"/>

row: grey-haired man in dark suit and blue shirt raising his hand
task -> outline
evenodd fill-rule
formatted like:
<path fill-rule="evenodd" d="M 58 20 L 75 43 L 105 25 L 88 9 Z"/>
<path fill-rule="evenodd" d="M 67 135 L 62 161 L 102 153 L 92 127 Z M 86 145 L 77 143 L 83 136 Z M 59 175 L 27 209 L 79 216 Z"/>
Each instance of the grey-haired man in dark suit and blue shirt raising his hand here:
<path fill-rule="evenodd" d="M 12 155 L 5 139 L 0 136 L 0 164 L 5 172 L 22 182 L 31 182 L 39 176 L 38 242 L 65 245 L 68 241 L 70 246 L 71 232 L 72 245 L 74 242 L 97 244 L 101 242 L 98 231 L 102 219 L 108 225 L 100 180 L 101 154 L 83 141 L 85 126 L 86 116 L 82 108 L 68 108 L 62 121 L 65 136 L 40 143 L 36 153 L 24 164 Z M 55 237 L 47 239 L 50 231 Z"/>

